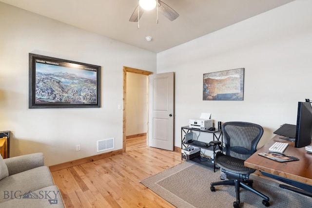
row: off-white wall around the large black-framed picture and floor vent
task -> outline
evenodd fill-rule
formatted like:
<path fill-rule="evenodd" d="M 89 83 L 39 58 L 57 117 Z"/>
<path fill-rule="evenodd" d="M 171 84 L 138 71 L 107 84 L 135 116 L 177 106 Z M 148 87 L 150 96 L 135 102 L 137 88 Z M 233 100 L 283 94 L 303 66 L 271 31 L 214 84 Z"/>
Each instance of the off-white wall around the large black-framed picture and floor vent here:
<path fill-rule="evenodd" d="M 122 149 L 123 66 L 156 72 L 156 54 L 4 3 L 0 19 L 0 131 L 13 134 L 11 156 L 42 151 L 54 165 L 98 154 L 97 140 L 111 137 Z M 28 53 L 100 65 L 101 108 L 28 109 Z"/>

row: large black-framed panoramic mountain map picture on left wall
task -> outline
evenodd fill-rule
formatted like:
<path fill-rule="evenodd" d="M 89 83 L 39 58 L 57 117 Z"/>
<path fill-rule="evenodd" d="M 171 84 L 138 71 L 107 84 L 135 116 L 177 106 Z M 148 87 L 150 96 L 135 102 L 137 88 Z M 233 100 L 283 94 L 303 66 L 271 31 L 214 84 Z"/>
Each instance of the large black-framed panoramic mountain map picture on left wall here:
<path fill-rule="evenodd" d="M 100 108 L 101 67 L 29 53 L 29 108 Z"/>

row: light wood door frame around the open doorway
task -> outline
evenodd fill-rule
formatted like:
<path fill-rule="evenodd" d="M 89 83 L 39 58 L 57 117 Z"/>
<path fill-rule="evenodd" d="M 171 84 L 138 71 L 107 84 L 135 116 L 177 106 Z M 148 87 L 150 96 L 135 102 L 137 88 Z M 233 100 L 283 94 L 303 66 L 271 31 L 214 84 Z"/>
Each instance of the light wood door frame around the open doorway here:
<path fill-rule="evenodd" d="M 145 70 L 140 70 L 140 69 L 136 69 L 136 68 L 131 68 L 131 67 L 127 67 L 124 66 L 123 67 L 123 118 L 122 118 L 122 152 L 126 152 L 126 129 L 127 129 L 127 116 L 126 116 L 126 109 L 127 109 L 127 72 L 131 72 L 131 73 L 136 73 L 136 74 L 140 74 L 140 75 L 145 75 L 145 76 L 149 76 L 152 75 L 153 72 L 149 72 L 149 71 L 145 71 Z M 147 130 L 146 130 L 146 141 L 148 141 L 148 91 L 149 91 L 149 81 L 148 81 L 148 77 L 146 79 L 147 81 L 147 89 L 146 89 L 146 105 L 147 105 Z"/>

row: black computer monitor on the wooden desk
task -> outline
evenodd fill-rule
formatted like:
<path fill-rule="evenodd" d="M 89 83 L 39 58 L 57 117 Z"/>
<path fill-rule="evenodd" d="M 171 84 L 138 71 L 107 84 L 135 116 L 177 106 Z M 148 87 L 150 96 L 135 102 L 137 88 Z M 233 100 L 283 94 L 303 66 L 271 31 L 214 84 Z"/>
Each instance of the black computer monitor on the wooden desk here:
<path fill-rule="evenodd" d="M 298 102 L 295 148 L 311 144 L 312 138 L 312 106 L 310 102 Z"/>

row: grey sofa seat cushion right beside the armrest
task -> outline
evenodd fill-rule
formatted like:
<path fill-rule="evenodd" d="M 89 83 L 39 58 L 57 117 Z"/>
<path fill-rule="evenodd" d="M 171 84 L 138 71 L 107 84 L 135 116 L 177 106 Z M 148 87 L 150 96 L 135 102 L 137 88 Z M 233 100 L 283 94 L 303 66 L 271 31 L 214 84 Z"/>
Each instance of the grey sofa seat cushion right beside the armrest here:
<path fill-rule="evenodd" d="M 47 166 L 7 176 L 0 180 L 0 203 L 19 198 L 29 191 L 53 185 L 51 172 Z"/>

